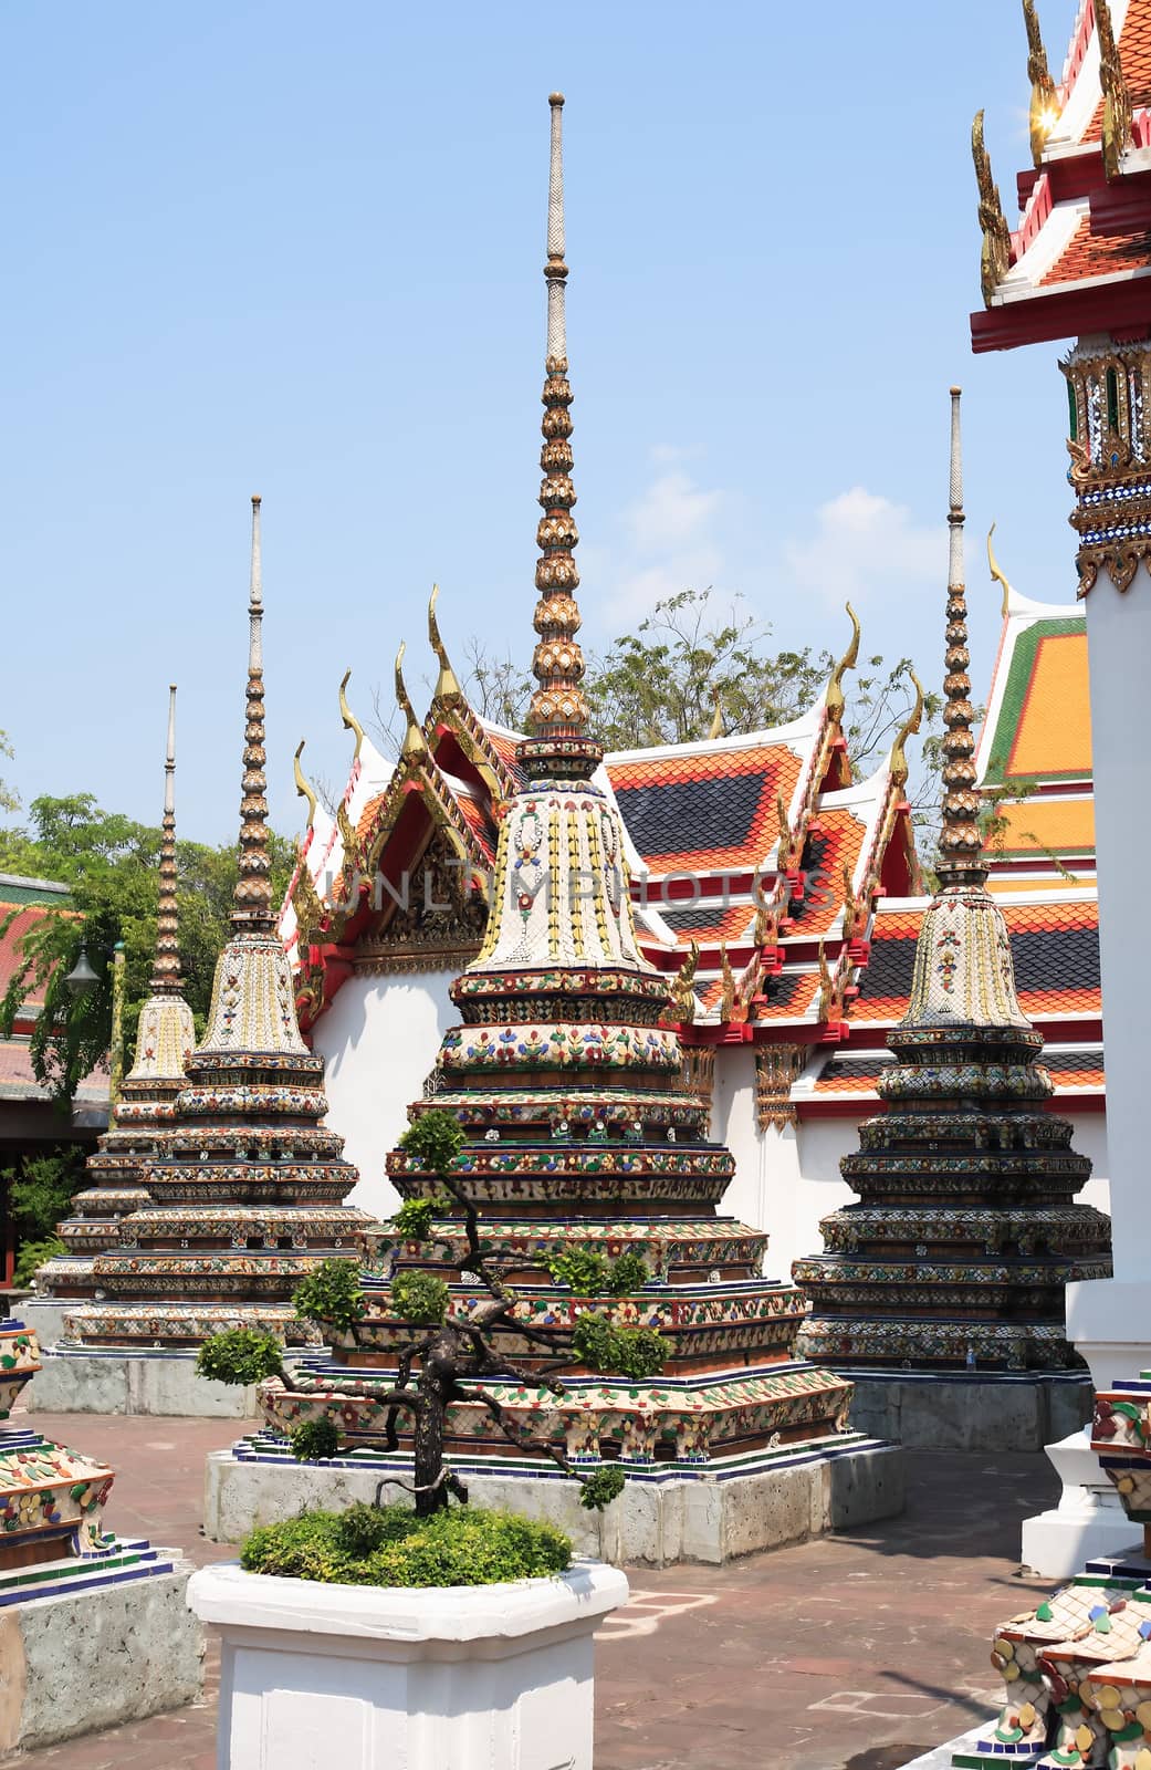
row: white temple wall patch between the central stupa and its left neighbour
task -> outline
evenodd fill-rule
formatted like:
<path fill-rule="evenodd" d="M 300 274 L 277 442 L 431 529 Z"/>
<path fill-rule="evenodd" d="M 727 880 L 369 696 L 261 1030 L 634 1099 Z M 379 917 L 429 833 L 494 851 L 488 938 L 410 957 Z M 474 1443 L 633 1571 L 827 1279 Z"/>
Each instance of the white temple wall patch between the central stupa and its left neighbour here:
<path fill-rule="evenodd" d="M 407 1131 L 408 1103 L 423 1094 L 440 1039 L 458 1020 L 447 997 L 453 977 L 357 974 L 316 1021 L 315 1050 L 327 1060 L 327 1122 L 359 1168 L 347 1202 L 375 1218 L 389 1218 L 400 1204 L 384 1158 Z"/>

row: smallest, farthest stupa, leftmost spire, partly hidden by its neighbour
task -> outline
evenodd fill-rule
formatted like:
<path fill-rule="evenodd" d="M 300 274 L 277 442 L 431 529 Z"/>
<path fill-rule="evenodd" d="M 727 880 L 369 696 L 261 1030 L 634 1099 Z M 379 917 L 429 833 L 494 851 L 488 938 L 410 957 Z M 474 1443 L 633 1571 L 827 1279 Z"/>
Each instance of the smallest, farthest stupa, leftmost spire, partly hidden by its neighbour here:
<path fill-rule="evenodd" d="M 179 903 L 175 871 L 175 687 L 168 690 L 168 754 L 164 759 L 164 821 L 159 848 L 159 901 L 156 954 L 149 998 L 140 1009 L 136 1060 L 117 1099 L 110 1124 L 85 1163 L 88 1184 L 72 1198 L 71 1216 L 58 1225 L 65 1253 L 37 1273 L 46 1297 L 90 1297 L 99 1289 L 97 1253 L 115 1248 L 120 1220 L 152 1200 L 141 1170 L 163 1150 L 175 1124 L 175 1103 L 196 1043 L 193 1012 L 182 997 Z"/>

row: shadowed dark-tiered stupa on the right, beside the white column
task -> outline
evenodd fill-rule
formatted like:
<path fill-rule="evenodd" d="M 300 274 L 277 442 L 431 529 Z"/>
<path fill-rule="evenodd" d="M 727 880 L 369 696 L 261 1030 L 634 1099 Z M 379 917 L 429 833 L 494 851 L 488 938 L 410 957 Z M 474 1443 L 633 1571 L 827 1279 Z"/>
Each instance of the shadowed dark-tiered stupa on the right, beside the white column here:
<path fill-rule="evenodd" d="M 1064 1285 L 1107 1276 L 1110 1225 L 1073 1202 L 1091 1165 L 1048 1110 L 1043 1037 L 1018 1005 L 1002 910 L 985 890 L 957 388 L 948 522 L 939 890 L 889 1037 L 886 1112 L 842 1161 L 859 1204 L 824 1218 L 826 1251 L 792 1267 L 812 1299 L 799 1347 L 847 1372 L 1082 1370 L 1064 1335 Z"/>

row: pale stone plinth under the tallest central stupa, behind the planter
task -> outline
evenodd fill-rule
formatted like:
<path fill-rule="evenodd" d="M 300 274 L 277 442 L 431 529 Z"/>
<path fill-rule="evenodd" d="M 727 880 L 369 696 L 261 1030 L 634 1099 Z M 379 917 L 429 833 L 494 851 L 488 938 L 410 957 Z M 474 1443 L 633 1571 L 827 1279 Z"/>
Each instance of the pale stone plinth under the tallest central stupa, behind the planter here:
<path fill-rule="evenodd" d="M 451 1462 L 467 1481 L 472 1504 L 559 1524 L 578 1556 L 615 1566 L 721 1565 L 903 1510 L 900 1448 L 856 1437 L 847 1444 L 822 1439 L 758 1460 L 709 1464 L 698 1476 L 626 1466 L 624 1492 L 601 1513 L 585 1512 L 576 1483 L 548 1474 L 534 1458 L 453 1457 Z M 387 1474 L 410 1485 L 410 1457 L 355 1451 L 299 1464 L 283 1439 L 256 1434 L 207 1458 L 203 1531 L 214 1542 L 239 1542 L 256 1524 L 375 1499 Z M 385 1487 L 384 1499 L 405 1499 L 405 1492 Z"/>

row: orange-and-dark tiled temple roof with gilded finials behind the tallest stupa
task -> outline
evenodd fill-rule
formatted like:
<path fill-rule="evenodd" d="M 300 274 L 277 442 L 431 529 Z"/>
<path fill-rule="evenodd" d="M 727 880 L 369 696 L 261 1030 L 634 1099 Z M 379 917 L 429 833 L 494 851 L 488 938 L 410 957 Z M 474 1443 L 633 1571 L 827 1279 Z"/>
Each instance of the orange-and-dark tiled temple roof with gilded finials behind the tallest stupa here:
<path fill-rule="evenodd" d="M 621 811 L 644 956 L 677 972 L 693 945 L 700 949 L 700 1027 L 728 1023 L 725 984 L 737 979 L 736 1021 L 764 1021 L 764 1030 L 801 1021 L 815 1037 L 826 1020 L 820 1000 L 842 1005 L 850 940 L 859 956 L 861 924 L 880 883 L 907 890 L 914 881 L 902 773 L 888 758 L 868 781 L 850 782 L 836 689 L 833 678 L 808 713 L 783 726 L 610 752 L 594 772 L 594 784 Z M 339 818 L 341 835 L 316 807 L 279 924 L 297 975 L 311 977 L 299 993 L 306 1025 L 350 974 L 357 943 L 375 950 L 393 913 L 389 892 L 419 866 L 437 830 L 477 876 L 488 871 L 502 804 L 520 788 L 518 742 L 518 733 L 481 719 L 458 689 L 437 690 L 400 763 L 359 800 L 357 864 L 387 881 L 375 912 L 366 894 L 350 899 L 350 818 Z M 348 795 L 345 807 L 352 809 Z M 301 954 L 304 899 L 309 931 L 327 938 L 309 940 Z M 827 993 L 829 977 L 838 995 Z"/>

